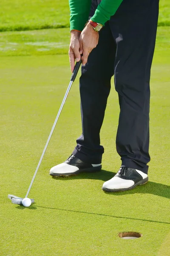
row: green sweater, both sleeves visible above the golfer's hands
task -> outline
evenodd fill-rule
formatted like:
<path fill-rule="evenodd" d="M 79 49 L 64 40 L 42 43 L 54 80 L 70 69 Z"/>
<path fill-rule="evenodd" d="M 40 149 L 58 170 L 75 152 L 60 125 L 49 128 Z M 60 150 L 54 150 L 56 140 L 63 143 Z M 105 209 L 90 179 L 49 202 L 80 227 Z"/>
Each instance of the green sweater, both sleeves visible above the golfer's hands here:
<path fill-rule="evenodd" d="M 95 14 L 91 20 L 105 25 L 105 22 L 110 20 L 115 14 L 119 5 L 123 0 L 102 0 L 98 5 Z M 70 5 L 70 30 L 76 29 L 82 31 L 85 23 L 88 21 L 88 16 L 91 8 L 91 0 L 69 0 Z"/>

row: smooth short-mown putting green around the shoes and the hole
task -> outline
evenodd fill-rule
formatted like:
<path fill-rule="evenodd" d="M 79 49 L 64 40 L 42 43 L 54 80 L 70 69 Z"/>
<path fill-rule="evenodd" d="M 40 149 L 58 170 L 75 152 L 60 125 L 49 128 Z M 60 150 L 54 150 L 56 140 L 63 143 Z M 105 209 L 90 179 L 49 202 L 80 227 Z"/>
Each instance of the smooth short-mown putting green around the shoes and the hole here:
<path fill-rule="evenodd" d="M 29 208 L 11 204 L 7 195 L 26 194 L 68 86 L 69 61 L 67 55 L 1 58 L 0 255 L 169 256 L 168 38 L 169 28 L 159 28 L 151 73 L 150 182 L 129 192 L 101 190 L 120 166 L 115 148 L 119 104 L 114 86 L 101 131 L 103 171 L 59 179 L 48 175 L 51 166 L 69 156 L 81 133 L 77 79 L 31 189 L 29 196 L 35 204 Z M 117 236 L 122 231 L 143 236 L 127 241 Z"/>

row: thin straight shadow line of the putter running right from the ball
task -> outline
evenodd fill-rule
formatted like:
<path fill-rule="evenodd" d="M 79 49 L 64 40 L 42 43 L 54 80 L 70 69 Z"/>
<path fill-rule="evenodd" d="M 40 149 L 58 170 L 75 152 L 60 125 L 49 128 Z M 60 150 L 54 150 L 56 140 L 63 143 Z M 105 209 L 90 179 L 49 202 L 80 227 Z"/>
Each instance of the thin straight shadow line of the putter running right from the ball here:
<path fill-rule="evenodd" d="M 136 220 L 136 221 L 149 221 L 149 222 L 155 222 L 155 223 L 161 223 L 161 224 L 170 224 L 170 222 L 153 221 L 153 220 L 139 219 L 139 218 L 121 217 L 121 216 L 114 216 L 114 215 L 108 215 L 108 214 L 102 214 L 102 213 L 83 212 L 83 211 L 75 211 L 75 210 L 60 209 L 60 208 L 53 208 L 53 207 L 44 207 L 44 206 L 40 206 L 40 205 L 36 205 L 36 207 L 45 208 L 45 209 L 53 209 L 53 210 L 58 210 L 58 211 L 77 212 L 77 213 L 85 213 L 85 214 L 91 214 L 91 215 L 99 215 L 99 216 L 119 218 L 119 219 L 122 218 L 122 219 Z"/>

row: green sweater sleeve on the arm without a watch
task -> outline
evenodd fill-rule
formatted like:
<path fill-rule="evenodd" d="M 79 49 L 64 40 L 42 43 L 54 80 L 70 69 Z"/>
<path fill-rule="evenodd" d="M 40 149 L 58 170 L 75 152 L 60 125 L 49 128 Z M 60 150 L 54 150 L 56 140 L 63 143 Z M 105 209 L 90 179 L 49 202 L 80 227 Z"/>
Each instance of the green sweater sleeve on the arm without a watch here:
<path fill-rule="evenodd" d="M 82 31 L 88 20 L 91 0 L 69 0 L 70 6 L 70 30 Z"/>

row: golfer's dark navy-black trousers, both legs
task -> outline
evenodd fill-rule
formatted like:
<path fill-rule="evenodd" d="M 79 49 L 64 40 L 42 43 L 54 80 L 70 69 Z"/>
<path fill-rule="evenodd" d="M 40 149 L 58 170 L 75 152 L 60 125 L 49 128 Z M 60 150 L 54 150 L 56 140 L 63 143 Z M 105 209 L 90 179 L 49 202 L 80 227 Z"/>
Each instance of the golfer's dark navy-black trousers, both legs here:
<path fill-rule="evenodd" d="M 94 3 L 92 15 L 97 6 Z M 73 154 L 82 161 L 93 164 L 102 161 L 104 148 L 99 133 L 114 75 L 120 105 L 117 152 L 122 165 L 147 173 L 150 67 L 158 9 L 159 0 L 123 0 L 99 32 L 99 44 L 82 66 L 80 77 L 82 135 Z"/>

